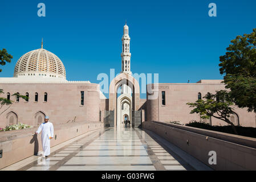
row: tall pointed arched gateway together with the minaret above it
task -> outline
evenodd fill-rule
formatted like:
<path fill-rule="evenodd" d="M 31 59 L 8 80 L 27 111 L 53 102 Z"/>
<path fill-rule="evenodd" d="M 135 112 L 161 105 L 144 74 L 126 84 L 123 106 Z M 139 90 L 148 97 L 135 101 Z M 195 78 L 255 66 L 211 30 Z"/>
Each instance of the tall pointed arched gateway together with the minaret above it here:
<path fill-rule="evenodd" d="M 129 49 L 128 26 L 124 26 L 124 35 L 122 38 L 121 52 L 121 73 L 116 76 L 109 85 L 109 111 L 113 117 L 110 117 L 112 127 L 123 127 L 124 117 L 129 118 L 133 127 L 141 124 L 140 117 L 140 85 L 132 77 L 131 72 L 131 53 Z M 118 92 L 120 91 L 120 93 Z"/>

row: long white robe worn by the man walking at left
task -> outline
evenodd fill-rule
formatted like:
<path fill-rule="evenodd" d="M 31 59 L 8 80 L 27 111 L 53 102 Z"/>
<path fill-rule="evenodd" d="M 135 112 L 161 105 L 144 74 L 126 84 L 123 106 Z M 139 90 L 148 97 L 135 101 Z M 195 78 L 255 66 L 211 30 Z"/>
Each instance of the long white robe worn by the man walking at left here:
<path fill-rule="evenodd" d="M 50 155 L 50 139 L 49 137 L 54 137 L 54 126 L 51 122 L 42 123 L 39 127 L 36 133 L 40 133 L 42 131 L 41 135 L 41 141 L 42 141 L 42 147 L 43 152 L 45 156 Z"/>

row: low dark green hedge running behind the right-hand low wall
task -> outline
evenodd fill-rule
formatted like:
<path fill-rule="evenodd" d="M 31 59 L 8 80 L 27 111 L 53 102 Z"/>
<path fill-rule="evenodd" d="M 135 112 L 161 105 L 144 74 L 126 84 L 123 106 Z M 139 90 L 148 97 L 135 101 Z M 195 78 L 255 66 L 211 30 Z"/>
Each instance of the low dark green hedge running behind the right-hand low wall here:
<path fill-rule="evenodd" d="M 211 126 L 209 123 L 202 123 L 196 121 L 190 121 L 186 124 L 186 126 L 197 127 L 199 129 L 213 130 L 219 131 L 222 133 L 234 134 L 234 130 L 232 126 Z M 256 128 L 254 127 L 243 127 L 243 126 L 235 126 L 238 135 L 242 135 L 245 137 L 253 137 L 256 138 Z"/>

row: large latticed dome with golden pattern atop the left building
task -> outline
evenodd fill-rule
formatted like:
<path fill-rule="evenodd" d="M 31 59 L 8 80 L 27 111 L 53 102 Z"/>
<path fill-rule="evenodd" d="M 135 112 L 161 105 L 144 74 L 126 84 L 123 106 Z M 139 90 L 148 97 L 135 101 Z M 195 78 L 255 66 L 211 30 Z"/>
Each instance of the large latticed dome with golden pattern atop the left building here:
<path fill-rule="evenodd" d="M 14 77 L 56 77 L 66 79 L 66 70 L 54 53 L 42 48 L 25 53 L 17 61 Z"/>

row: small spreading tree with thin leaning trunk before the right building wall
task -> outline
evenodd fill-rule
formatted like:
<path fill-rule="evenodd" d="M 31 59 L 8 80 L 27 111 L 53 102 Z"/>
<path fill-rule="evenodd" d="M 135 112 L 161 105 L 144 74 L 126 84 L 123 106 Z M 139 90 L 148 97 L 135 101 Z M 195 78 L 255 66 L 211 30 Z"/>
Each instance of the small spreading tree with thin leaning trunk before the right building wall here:
<path fill-rule="evenodd" d="M 190 114 L 199 113 L 202 119 L 214 117 L 233 126 L 234 133 L 237 134 L 234 124 L 229 117 L 234 114 L 234 99 L 227 90 L 216 91 L 216 94 L 208 93 L 203 98 L 205 100 L 197 100 L 196 102 L 188 102 L 189 107 L 195 107 Z"/>

